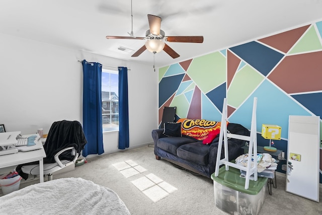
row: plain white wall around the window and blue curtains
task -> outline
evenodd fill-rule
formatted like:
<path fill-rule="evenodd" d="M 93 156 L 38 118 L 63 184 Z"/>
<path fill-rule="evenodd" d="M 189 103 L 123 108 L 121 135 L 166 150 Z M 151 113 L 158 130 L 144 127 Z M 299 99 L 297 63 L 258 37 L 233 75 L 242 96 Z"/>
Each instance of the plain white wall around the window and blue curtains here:
<path fill-rule="evenodd" d="M 86 51 L 0 34 L 0 124 L 35 133 L 59 120 L 82 121 L 83 71 L 77 59 L 127 66 L 130 148 L 152 142 L 157 128 L 157 72 Z M 104 68 L 104 67 L 103 67 Z M 109 68 L 109 67 L 107 67 Z M 109 68 L 110 69 L 110 68 Z M 118 132 L 104 133 L 105 154 L 117 152 Z"/>

